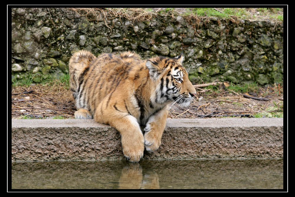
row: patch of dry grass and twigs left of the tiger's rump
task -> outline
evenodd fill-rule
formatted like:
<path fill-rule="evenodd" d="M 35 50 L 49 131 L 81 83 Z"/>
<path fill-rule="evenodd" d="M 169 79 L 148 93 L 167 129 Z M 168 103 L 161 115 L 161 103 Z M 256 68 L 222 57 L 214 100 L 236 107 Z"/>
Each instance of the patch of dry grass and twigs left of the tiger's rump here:
<path fill-rule="evenodd" d="M 12 87 L 12 93 L 21 92 L 30 93 L 12 95 L 12 118 L 51 116 L 73 118 L 76 108 L 70 91 L 63 84 L 52 82 L 30 87 Z"/>

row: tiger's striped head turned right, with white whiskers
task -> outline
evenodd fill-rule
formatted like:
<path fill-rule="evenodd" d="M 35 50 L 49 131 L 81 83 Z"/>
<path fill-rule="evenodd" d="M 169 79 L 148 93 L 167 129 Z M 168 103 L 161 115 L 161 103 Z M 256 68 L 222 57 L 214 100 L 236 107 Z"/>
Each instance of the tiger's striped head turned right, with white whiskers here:
<path fill-rule="evenodd" d="M 155 102 L 175 101 L 182 108 L 189 106 L 196 89 L 182 66 L 183 60 L 184 57 L 180 55 L 175 58 L 159 56 L 146 61 L 150 78 L 156 84 Z"/>

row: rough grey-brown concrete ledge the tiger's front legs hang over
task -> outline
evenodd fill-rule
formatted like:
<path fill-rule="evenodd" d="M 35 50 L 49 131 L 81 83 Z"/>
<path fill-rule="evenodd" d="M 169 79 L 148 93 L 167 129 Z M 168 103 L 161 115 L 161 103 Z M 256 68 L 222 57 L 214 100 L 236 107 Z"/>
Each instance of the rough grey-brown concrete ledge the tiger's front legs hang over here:
<path fill-rule="evenodd" d="M 169 119 L 143 159 L 283 158 L 283 118 Z M 124 159 L 119 132 L 94 120 L 12 120 L 12 161 Z"/>

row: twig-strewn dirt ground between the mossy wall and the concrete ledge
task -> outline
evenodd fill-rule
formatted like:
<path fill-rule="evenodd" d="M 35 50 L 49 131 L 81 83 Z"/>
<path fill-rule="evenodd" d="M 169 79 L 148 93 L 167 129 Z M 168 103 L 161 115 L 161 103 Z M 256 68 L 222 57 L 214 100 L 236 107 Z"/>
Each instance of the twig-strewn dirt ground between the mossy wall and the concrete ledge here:
<path fill-rule="evenodd" d="M 267 101 L 245 98 L 244 94 L 247 93 L 237 93 L 223 84 L 214 86 L 214 89 L 196 88 L 194 102 L 183 109 L 173 105 L 168 118 L 277 117 L 277 112 L 279 117 L 283 117 L 283 86 L 258 89 L 249 93 L 253 97 L 264 97 Z M 12 119 L 74 118 L 76 111 L 70 90 L 62 84 L 12 87 L 11 99 Z"/>

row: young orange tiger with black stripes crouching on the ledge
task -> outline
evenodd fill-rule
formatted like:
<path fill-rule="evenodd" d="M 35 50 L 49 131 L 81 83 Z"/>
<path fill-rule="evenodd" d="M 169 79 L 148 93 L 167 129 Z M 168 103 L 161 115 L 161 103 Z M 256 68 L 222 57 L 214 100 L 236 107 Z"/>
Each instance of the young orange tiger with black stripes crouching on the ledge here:
<path fill-rule="evenodd" d="M 139 162 L 145 149 L 159 148 L 169 104 L 187 107 L 196 95 L 183 61 L 183 55 L 142 60 L 131 51 L 98 57 L 86 50 L 74 53 L 69 81 L 75 118 L 116 128 L 124 156 Z"/>

